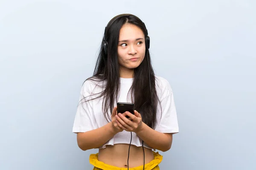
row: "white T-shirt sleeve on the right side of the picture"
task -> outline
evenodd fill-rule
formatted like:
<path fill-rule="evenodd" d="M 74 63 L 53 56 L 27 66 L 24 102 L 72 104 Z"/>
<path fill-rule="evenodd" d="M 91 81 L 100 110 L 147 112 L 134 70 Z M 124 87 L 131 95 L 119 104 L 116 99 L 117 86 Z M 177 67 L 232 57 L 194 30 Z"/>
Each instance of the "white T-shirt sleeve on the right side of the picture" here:
<path fill-rule="evenodd" d="M 161 108 L 159 109 L 160 113 L 155 130 L 161 133 L 178 133 L 179 127 L 173 91 L 167 80 L 164 81 L 162 90 L 162 95 L 160 97 L 160 106 L 162 107 L 162 110 Z"/>

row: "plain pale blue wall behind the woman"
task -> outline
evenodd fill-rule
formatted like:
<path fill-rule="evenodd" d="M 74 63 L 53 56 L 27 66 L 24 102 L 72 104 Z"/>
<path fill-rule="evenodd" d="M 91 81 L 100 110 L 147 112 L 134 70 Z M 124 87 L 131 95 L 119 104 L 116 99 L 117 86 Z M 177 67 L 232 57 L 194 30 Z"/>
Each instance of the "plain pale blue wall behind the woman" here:
<path fill-rule="evenodd" d="M 180 133 L 161 170 L 255 170 L 256 1 L 0 2 L 0 169 L 90 170 L 72 133 L 108 21 L 140 17 Z"/>

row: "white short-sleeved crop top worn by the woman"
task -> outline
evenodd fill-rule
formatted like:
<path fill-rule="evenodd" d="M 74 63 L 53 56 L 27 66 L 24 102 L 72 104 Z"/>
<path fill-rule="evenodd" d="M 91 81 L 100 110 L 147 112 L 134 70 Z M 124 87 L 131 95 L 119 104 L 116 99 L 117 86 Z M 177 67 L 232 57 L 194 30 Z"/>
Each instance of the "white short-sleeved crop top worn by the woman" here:
<path fill-rule="evenodd" d="M 158 112 L 155 130 L 161 133 L 178 133 L 179 127 L 177 122 L 177 114 L 172 88 L 166 79 L 159 76 L 155 77 L 157 95 L 160 99 L 160 105 L 162 106 L 162 117 L 160 117 L 161 110 L 159 104 L 157 106 Z M 131 102 L 131 95 L 128 95 L 128 91 L 131 88 L 132 82 L 133 78 L 120 78 L 120 92 L 118 102 Z M 73 124 L 73 133 L 94 130 L 108 124 L 108 121 L 105 119 L 104 113 L 102 112 L 102 98 L 93 99 L 97 95 L 90 96 L 91 94 L 97 94 L 102 91 L 102 85 L 100 85 L 101 87 L 99 87 L 96 85 L 96 83 L 99 82 L 86 80 L 82 85 L 79 101 L 81 99 L 82 100 L 79 102 L 76 111 L 76 116 Z M 84 99 L 84 97 L 86 98 Z M 87 101 L 88 99 L 91 99 L 91 97 L 93 97 L 93 100 Z M 111 111 L 109 111 L 109 116 L 111 117 Z M 109 120 L 109 122 L 111 122 L 111 120 Z M 105 148 L 106 145 L 130 144 L 130 142 L 137 147 L 142 146 L 142 140 L 137 136 L 136 133 L 132 132 L 131 141 L 131 132 L 123 130 L 122 132 L 117 133 L 115 136 L 113 136 L 113 138 L 111 138 L 109 141 L 107 141 L 105 144 L 98 148 Z M 143 146 L 149 149 L 154 149 L 149 147 L 148 144 L 146 144 L 145 142 L 143 143 Z"/>

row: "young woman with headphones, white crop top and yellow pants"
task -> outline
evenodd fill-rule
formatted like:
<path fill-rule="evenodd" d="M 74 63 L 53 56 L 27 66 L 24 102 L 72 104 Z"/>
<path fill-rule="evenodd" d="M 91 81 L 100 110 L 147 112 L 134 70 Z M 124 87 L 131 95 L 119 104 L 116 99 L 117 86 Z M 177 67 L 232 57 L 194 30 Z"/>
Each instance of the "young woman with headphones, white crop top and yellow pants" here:
<path fill-rule="evenodd" d="M 154 75 L 145 24 L 132 14 L 106 26 L 92 77 L 82 85 L 73 132 L 93 170 L 159 170 L 178 133 L 169 82 Z M 117 102 L 134 103 L 134 114 L 117 113 Z M 129 118 L 126 118 L 129 116 Z"/>

